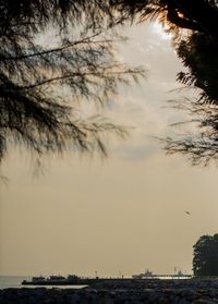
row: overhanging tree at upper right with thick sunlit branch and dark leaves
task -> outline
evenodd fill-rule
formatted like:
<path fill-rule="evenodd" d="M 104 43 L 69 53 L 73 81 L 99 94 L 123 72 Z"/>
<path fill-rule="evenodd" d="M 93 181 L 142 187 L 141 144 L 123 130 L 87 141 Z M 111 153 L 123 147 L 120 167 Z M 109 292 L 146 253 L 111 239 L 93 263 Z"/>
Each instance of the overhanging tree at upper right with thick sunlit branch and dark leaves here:
<path fill-rule="evenodd" d="M 112 1 L 123 20 L 158 20 L 173 35 L 178 57 L 186 72 L 178 81 L 196 89 L 196 99 L 179 100 L 174 108 L 189 109 L 198 132 L 168 137 L 168 154 L 182 153 L 193 165 L 218 158 L 218 1 L 118 0 Z M 184 31 L 185 29 L 185 31 Z M 175 100 L 177 101 L 177 100 Z"/>

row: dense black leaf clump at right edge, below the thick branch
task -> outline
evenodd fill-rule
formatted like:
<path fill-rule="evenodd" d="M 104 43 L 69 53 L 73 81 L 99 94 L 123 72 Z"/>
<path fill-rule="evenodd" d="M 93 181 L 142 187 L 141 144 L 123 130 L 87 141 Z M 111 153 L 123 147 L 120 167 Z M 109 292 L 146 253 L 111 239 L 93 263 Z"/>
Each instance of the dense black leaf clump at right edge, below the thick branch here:
<path fill-rule="evenodd" d="M 201 99 L 218 104 L 218 40 L 202 33 L 194 33 L 178 46 L 178 56 L 189 72 L 179 73 L 179 82 L 201 89 Z"/>

